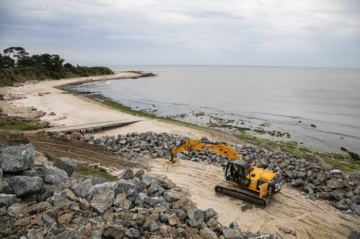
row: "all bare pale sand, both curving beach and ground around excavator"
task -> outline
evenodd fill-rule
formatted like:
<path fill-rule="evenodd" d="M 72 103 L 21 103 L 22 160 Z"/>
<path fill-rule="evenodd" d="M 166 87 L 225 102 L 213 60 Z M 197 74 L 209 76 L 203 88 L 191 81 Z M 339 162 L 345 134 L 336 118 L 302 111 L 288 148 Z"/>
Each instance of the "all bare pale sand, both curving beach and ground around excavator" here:
<path fill-rule="evenodd" d="M 136 76 L 138 75 L 134 72 L 116 72 L 115 75 L 110 76 L 78 77 L 25 84 L 20 87 L 6 87 L 2 88 L 0 93 L 16 95 L 17 99 L 2 101 L 1 107 L 9 115 L 24 114 L 20 109 L 36 108 L 37 111 L 45 112 L 41 120 L 48 121 L 54 126 L 122 119 L 140 120 L 128 126 L 97 133 L 96 136 L 153 131 L 173 132 L 191 138 L 207 136 L 210 140 L 223 140 L 221 135 L 214 136 L 206 131 L 133 116 L 106 107 L 86 97 L 76 96 L 55 88 L 74 82 L 85 82 L 91 78 L 105 80 Z M 179 187 L 187 190 L 200 209 L 213 208 L 218 212 L 218 220 L 224 226 L 229 226 L 231 222 L 237 221 L 242 231 L 260 231 L 261 233 L 270 231 L 283 238 L 348 238 L 351 229 L 360 231 L 359 216 L 341 213 L 339 210 L 329 207 L 326 201 L 307 200 L 300 194 L 300 191 L 293 188 L 284 187 L 279 194 L 274 196 L 271 204 L 264 209 L 248 206 L 240 200 L 215 194 L 214 185 L 223 181 L 222 168 L 214 165 L 182 162 L 181 165 L 172 166 L 167 171 L 163 169 L 163 164 L 163 158 L 152 160 L 150 173 L 165 174 Z M 283 228 L 296 230 L 297 236 L 285 234 L 279 230 Z"/>

